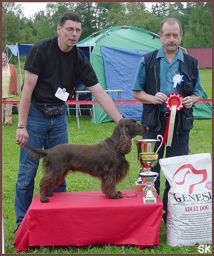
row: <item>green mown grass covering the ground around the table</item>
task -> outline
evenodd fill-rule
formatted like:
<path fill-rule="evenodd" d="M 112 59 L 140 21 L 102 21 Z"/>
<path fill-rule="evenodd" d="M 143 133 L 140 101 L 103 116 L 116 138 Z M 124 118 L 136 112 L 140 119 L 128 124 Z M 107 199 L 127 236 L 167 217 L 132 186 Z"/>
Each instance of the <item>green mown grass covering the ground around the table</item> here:
<path fill-rule="evenodd" d="M 200 70 L 204 89 L 211 97 L 211 69 Z M 19 146 L 16 145 L 15 133 L 17 114 L 13 116 L 13 125 L 2 127 L 2 201 L 5 228 L 6 254 L 20 253 L 15 250 L 14 230 L 15 212 L 14 195 L 17 169 L 19 166 Z M 104 140 L 112 134 L 115 123 L 106 122 L 94 125 L 90 116 L 80 117 L 80 129 L 75 126 L 75 116 L 68 116 L 69 142 L 72 143 L 95 143 Z M 212 151 L 212 120 L 195 120 L 194 128 L 190 132 L 190 153 L 211 153 Z M 139 163 L 136 160 L 135 147 L 127 155 L 130 162 L 130 174 L 118 184 L 118 189 L 135 189 L 135 180 L 139 174 Z M 38 193 L 39 180 L 42 176 L 42 168 L 39 166 L 35 178 L 34 194 Z M 99 190 L 100 181 L 96 178 L 81 173 L 69 174 L 67 180 L 68 191 Z M 161 175 L 161 184 L 164 184 L 164 177 Z M 162 185 L 163 186 L 163 185 Z M 162 195 L 160 195 L 162 196 Z M 166 242 L 166 224 L 162 223 L 160 231 L 160 244 L 154 248 L 140 250 L 132 245 L 92 245 L 92 246 L 68 246 L 68 247 L 47 247 L 32 248 L 26 251 L 28 254 L 198 254 L 197 246 L 172 247 Z"/>

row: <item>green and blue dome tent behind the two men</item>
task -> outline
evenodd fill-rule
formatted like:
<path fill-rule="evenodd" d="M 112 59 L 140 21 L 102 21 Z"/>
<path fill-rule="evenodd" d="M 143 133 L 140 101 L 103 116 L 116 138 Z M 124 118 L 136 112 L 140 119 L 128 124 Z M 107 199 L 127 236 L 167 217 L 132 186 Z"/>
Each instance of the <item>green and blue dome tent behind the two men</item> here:
<path fill-rule="evenodd" d="M 119 26 L 104 29 L 84 38 L 77 46 L 90 53 L 90 62 L 105 90 L 123 90 L 122 99 L 135 100 L 131 89 L 139 61 L 146 52 L 162 46 L 157 34 L 145 29 Z M 181 47 L 182 48 L 182 47 Z M 186 52 L 185 48 L 182 51 Z M 113 100 L 115 95 L 111 95 Z M 203 99 L 207 99 L 203 92 Z M 124 117 L 141 120 L 142 104 L 122 104 Z M 96 123 L 110 121 L 100 105 L 95 105 Z M 212 118 L 211 103 L 197 103 L 193 108 L 195 119 Z M 92 122 L 95 118 L 92 117 Z"/>

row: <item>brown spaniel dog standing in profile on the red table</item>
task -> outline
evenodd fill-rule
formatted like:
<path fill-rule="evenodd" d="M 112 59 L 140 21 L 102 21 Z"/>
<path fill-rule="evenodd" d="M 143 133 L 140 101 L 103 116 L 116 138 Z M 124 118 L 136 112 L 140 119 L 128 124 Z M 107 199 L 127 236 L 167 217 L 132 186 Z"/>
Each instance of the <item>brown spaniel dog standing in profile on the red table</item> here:
<path fill-rule="evenodd" d="M 36 149 L 26 145 L 37 160 L 43 159 L 44 175 L 39 184 L 41 202 L 48 202 L 50 189 L 61 184 L 69 171 L 81 171 L 101 180 L 101 190 L 109 198 L 122 198 L 115 187 L 128 173 L 125 155 L 131 151 L 132 138 L 144 135 L 148 127 L 133 118 L 122 118 L 112 136 L 95 144 L 59 144 L 50 149 Z"/>

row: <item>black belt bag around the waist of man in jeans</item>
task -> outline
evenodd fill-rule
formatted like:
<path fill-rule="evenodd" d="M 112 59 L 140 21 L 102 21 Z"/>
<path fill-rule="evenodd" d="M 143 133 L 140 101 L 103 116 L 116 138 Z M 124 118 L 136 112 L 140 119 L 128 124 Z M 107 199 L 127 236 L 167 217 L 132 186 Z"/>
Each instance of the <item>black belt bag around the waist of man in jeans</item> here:
<path fill-rule="evenodd" d="M 55 117 L 61 116 L 64 113 L 64 105 L 63 104 L 49 104 L 49 103 L 38 103 L 32 101 L 32 104 L 39 109 L 39 111 L 44 114 L 46 117 Z"/>

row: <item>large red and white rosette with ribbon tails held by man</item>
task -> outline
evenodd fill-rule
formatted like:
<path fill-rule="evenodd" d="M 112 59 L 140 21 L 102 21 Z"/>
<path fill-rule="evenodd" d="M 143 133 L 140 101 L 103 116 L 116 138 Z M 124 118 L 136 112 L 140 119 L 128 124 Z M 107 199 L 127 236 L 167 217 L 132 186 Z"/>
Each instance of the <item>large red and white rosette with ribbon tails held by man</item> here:
<path fill-rule="evenodd" d="M 168 100 L 164 103 L 167 109 L 170 111 L 170 116 L 168 118 L 167 127 L 163 136 L 163 143 L 166 141 L 167 138 L 167 146 L 171 147 L 172 144 L 172 136 L 173 130 L 175 126 L 175 115 L 176 111 L 180 111 L 183 107 L 181 103 L 182 96 L 178 93 L 168 94 Z"/>

